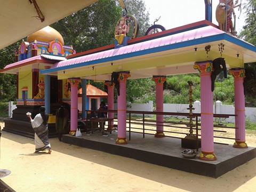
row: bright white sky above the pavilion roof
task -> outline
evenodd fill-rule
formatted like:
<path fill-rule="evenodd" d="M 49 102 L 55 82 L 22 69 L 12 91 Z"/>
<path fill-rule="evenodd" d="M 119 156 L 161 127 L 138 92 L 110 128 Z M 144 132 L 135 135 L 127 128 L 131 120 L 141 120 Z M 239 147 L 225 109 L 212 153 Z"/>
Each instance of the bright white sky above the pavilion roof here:
<path fill-rule="evenodd" d="M 153 25 L 154 20 L 159 18 L 159 25 L 165 27 L 165 29 L 172 29 L 187 25 L 189 23 L 201 21 L 205 19 L 205 4 L 204 0 L 144 0 L 147 6 L 147 10 L 150 14 L 150 25 Z M 235 0 L 234 0 L 235 1 Z M 240 2 L 241 0 L 239 0 Z M 247 0 L 243 0 L 242 4 L 245 4 Z M 215 19 L 215 10 L 219 3 L 219 0 L 212 0 L 212 22 L 218 25 Z M 242 6 L 243 7 L 243 6 Z M 236 17 L 238 18 L 240 12 L 238 7 L 235 9 Z M 242 30 L 244 26 L 246 15 L 245 10 L 242 10 L 242 14 L 237 19 L 236 30 Z"/>

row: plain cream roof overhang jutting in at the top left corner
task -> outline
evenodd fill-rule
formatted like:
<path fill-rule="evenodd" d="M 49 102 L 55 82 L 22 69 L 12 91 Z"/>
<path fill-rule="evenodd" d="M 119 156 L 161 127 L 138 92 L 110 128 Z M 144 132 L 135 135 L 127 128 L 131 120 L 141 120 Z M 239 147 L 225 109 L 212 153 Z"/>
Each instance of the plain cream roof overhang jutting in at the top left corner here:
<path fill-rule="evenodd" d="M 97 0 L 1 1 L 0 49 L 95 2 Z"/>

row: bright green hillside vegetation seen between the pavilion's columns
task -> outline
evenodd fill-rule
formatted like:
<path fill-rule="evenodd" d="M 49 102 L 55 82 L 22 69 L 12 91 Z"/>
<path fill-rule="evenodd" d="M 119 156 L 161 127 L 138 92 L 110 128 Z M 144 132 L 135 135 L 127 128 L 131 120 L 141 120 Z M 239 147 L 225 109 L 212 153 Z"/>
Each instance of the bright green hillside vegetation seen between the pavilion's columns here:
<path fill-rule="evenodd" d="M 200 101 L 200 77 L 198 74 L 189 74 L 167 77 L 164 103 L 188 103 L 188 81 L 193 82 L 193 101 Z M 234 79 L 231 75 L 227 79 L 217 78 L 214 90 L 215 101 L 233 104 Z M 155 101 L 155 83 L 151 78 L 127 81 L 127 101 L 147 103 L 150 100 Z"/>

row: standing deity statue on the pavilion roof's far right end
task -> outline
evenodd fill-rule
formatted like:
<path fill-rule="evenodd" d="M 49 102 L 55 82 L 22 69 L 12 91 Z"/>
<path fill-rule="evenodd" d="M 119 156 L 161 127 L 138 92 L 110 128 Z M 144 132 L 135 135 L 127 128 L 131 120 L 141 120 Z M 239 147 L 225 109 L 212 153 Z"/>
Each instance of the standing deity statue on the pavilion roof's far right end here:
<path fill-rule="evenodd" d="M 238 10 L 241 11 L 241 3 L 238 4 L 238 0 L 220 0 L 216 9 L 216 20 L 219 23 L 221 30 L 227 33 L 236 35 L 236 14 L 235 8 L 239 7 Z M 234 18 L 234 23 L 232 19 Z"/>

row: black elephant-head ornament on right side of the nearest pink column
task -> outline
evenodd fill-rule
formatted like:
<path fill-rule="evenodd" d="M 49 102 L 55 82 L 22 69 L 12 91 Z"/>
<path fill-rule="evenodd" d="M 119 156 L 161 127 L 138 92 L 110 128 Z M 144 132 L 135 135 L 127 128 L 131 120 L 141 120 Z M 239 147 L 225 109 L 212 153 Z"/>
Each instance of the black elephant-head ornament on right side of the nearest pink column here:
<path fill-rule="evenodd" d="M 211 79 L 212 79 L 212 92 L 214 91 L 214 83 L 215 79 L 217 76 L 223 71 L 224 77 L 227 78 L 227 67 L 226 67 L 226 62 L 224 58 L 217 58 L 212 61 L 212 74 L 211 74 Z"/>

